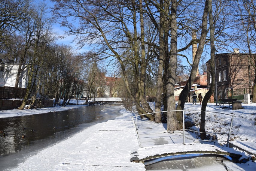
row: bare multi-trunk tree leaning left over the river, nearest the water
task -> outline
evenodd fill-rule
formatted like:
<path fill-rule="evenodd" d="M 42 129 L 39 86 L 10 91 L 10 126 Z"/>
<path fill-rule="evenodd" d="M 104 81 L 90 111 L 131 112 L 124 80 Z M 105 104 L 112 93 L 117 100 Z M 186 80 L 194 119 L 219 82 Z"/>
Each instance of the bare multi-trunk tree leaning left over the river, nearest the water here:
<path fill-rule="evenodd" d="M 83 46 L 84 43 L 97 41 L 99 54 L 105 53 L 107 57 L 114 57 L 119 61 L 122 73 L 129 92 L 139 113 L 152 112 L 144 98 L 144 54 L 138 52 L 138 9 L 136 1 L 55 1 L 56 17 L 63 19 L 62 25 L 69 28 L 69 34 L 76 34 Z M 63 5 L 65 4 L 65 5 Z M 69 22 L 67 17 L 78 19 L 78 27 Z M 142 20 L 141 20 L 142 21 Z M 107 27 L 106 27 L 107 26 Z M 140 35 L 143 34 L 140 32 Z M 140 36 L 141 37 L 141 36 Z M 79 43 L 78 42 L 78 43 Z M 96 49 L 96 47 L 95 47 Z M 129 80 L 126 75 L 124 52 L 131 50 L 131 58 L 136 68 L 138 93 L 137 96 L 130 90 Z M 143 62 L 142 62 L 143 61 Z M 142 106 L 143 107 L 142 107 Z M 152 115 L 147 115 L 153 120 Z"/>

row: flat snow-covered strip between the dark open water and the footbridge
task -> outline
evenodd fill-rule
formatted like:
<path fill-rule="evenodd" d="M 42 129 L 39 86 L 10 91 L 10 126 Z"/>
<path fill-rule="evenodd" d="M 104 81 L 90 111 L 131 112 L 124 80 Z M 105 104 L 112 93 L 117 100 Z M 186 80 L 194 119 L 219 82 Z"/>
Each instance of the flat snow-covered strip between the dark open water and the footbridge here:
<path fill-rule="evenodd" d="M 9 170 L 145 170 L 144 164 L 130 162 L 132 150 L 139 147 L 130 118 L 133 114 L 121 106 L 112 110 L 123 115 L 27 156 Z"/>

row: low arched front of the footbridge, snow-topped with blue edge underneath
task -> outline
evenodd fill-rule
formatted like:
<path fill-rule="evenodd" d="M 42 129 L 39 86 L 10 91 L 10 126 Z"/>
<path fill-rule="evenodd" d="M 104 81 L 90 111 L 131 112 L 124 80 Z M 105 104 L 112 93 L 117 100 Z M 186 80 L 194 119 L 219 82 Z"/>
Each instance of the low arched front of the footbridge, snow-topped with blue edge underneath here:
<path fill-rule="evenodd" d="M 227 158 L 235 163 L 246 162 L 247 156 L 232 148 L 214 146 L 210 144 L 166 144 L 160 146 L 151 146 L 148 148 L 139 148 L 131 154 L 131 162 L 140 162 L 146 165 L 154 164 L 159 161 L 201 157 L 203 155 L 217 155 Z"/>

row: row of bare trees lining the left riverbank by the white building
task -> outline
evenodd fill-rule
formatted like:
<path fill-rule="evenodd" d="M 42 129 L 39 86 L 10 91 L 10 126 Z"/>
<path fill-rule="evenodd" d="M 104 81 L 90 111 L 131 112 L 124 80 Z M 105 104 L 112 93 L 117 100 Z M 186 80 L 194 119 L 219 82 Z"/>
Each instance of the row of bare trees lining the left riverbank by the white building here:
<path fill-rule="evenodd" d="M 56 44 L 53 21 L 44 3 L 30 0 L 1 0 L 0 62 L 11 60 L 19 64 L 15 87 L 26 64 L 27 91 L 20 110 L 28 99 L 31 106 L 36 97 L 55 98 L 56 104 L 69 103 L 72 96 L 81 95 L 86 87 L 87 63 L 71 46 Z"/>

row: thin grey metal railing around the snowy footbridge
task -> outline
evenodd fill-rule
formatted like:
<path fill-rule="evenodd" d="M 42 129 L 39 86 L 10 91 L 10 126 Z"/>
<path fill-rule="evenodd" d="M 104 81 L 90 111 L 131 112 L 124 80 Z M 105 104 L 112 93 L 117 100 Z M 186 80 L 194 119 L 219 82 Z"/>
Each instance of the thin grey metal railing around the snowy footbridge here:
<path fill-rule="evenodd" d="M 188 129 L 185 129 L 185 114 L 184 112 L 185 111 L 189 111 L 189 110 L 169 110 L 169 111 L 161 111 L 161 112 L 153 112 L 153 113 L 146 113 L 146 114 L 142 114 L 142 115 L 136 115 L 136 116 L 132 116 L 132 120 L 133 120 L 133 125 L 134 125 L 134 128 L 135 128 L 135 132 L 136 132 L 136 136 L 137 136 L 137 140 L 139 142 L 139 147 L 141 148 L 141 143 L 140 143 L 140 139 L 139 139 L 139 134 L 138 134 L 138 128 L 137 128 L 137 118 L 138 116 L 143 116 L 143 115 L 148 115 L 148 114 L 154 114 L 154 113 L 163 113 L 163 112 L 177 112 L 177 111 L 182 111 L 182 124 L 183 124 L 183 129 L 181 130 L 175 130 L 175 131 L 182 131 L 183 133 L 183 144 L 185 144 L 185 131 L 193 131 L 195 133 L 202 133 L 202 132 L 199 132 L 199 131 L 194 131 L 194 130 L 188 130 Z M 190 111 L 189 111 L 190 112 Z M 202 112 L 201 110 L 194 110 L 194 112 Z M 220 112 L 213 112 L 213 111 L 203 111 L 205 113 L 218 113 L 218 114 L 223 114 L 223 115 L 227 115 L 227 116 L 231 116 L 231 122 L 230 122 L 230 128 L 229 128 L 229 132 L 228 132 L 228 137 L 227 137 L 227 141 L 224 141 L 224 142 L 227 142 L 226 144 L 226 147 L 228 147 L 228 143 L 229 143 L 229 139 L 230 139 L 230 133 L 231 133 L 231 128 L 232 128 L 232 124 L 233 124 L 233 117 L 236 117 L 234 115 L 230 115 L 230 114 L 226 114 L 226 113 L 220 113 Z M 134 118 L 136 118 L 136 121 L 134 121 Z M 168 132 L 166 130 L 166 132 Z M 174 132 L 174 131 L 173 131 Z M 161 132 L 163 133 L 163 132 Z M 214 134 L 223 134 L 223 133 L 217 133 L 217 132 L 206 132 L 205 134 L 209 134 L 209 133 L 214 133 Z M 145 134 L 144 134 L 145 135 Z M 148 134 L 148 135 L 152 135 L 152 134 Z M 145 137 L 144 137 L 145 138 Z M 208 142 L 213 142 L 213 141 L 216 141 L 216 140 L 201 140 L 201 139 L 197 139 L 197 140 L 200 140 L 200 141 L 208 141 Z"/>

